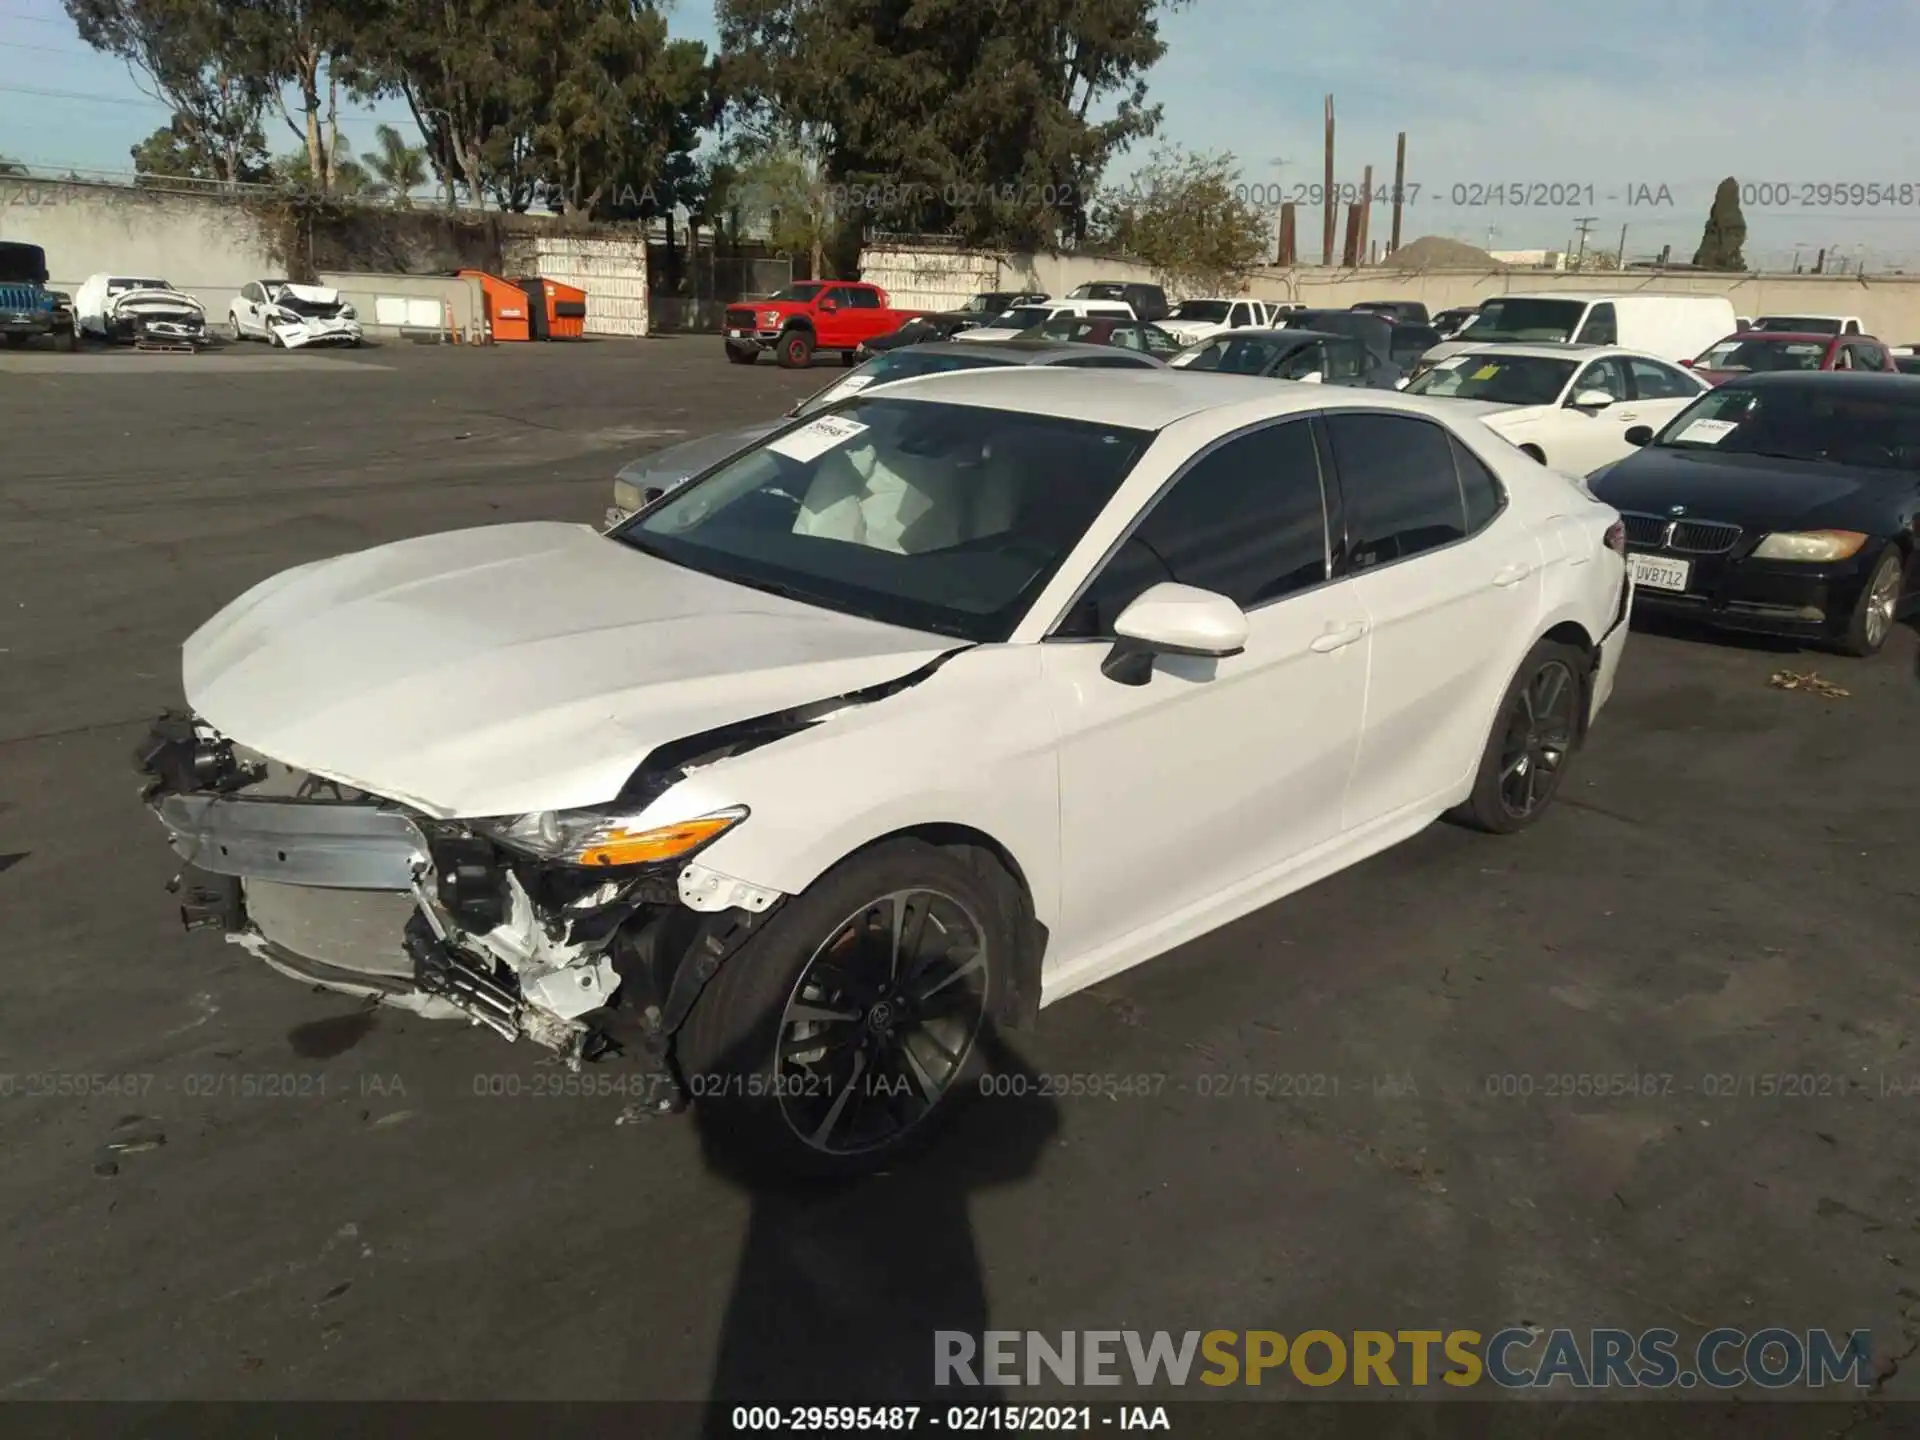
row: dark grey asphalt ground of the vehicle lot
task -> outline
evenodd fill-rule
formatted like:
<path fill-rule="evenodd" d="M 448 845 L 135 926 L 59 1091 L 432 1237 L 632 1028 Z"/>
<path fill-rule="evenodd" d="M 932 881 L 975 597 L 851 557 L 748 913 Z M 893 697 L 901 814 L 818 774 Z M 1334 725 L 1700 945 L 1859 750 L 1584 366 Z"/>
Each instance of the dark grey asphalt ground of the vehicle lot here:
<path fill-rule="evenodd" d="M 127 756 L 198 622 L 301 561 L 597 520 L 626 457 L 835 372 L 0 357 L 0 1396 L 881 1398 L 933 1329 L 1532 1323 L 1866 1327 L 1920 1398 L 1910 628 L 1870 662 L 1642 630 L 1540 828 L 1436 826 L 1066 1000 L 1020 1064 L 1139 1092 L 981 1098 L 837 1190 L 749 1192 L 693 1117 L 180 933 Z M 1665 1092 L 1553 1079 L 1624 1073 Z"/>

